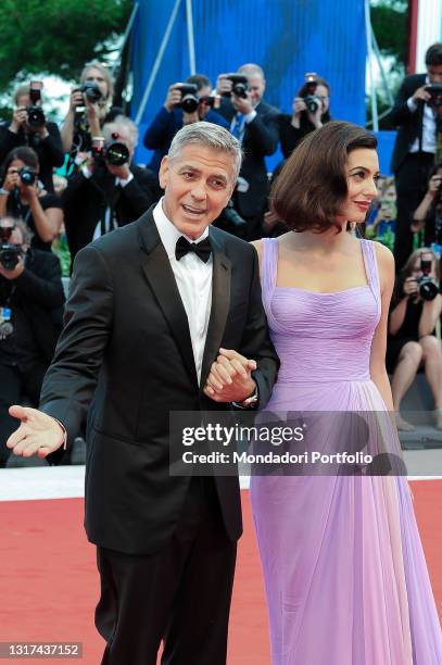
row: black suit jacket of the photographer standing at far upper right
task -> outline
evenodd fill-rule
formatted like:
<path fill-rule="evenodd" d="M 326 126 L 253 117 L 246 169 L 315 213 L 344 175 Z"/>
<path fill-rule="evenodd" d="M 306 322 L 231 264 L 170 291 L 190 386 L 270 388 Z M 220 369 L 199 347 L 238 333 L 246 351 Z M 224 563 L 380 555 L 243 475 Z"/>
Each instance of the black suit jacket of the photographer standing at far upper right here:
<path fill-rule="evenodd" d="M 406 76 L 390 113 L 391 122 L 397 127 L 397 136 L 391 158 L 391 171 L 394 174 L 397 174 L 416 138 L 421 138 L 422 136 L 424 102 L 419 101 L 416 111 L 412 113 L 406 101 L 414 95 L 417 88 L 424 86 L 426 77 L 426 74 Z"/>

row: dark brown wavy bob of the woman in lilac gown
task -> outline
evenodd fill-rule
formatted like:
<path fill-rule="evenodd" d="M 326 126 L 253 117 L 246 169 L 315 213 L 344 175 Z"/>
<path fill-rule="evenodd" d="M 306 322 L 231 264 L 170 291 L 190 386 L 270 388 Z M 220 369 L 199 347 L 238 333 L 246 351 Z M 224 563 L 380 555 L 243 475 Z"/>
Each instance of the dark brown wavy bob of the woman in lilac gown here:
<path fill-rule="evenodd" d="M 271 216 L 290 230 L 321 234 L 336 222 L 349 189 L 346 162 L 358 148 L 376 150 L 376 137 L 353 123 L 330 121 L 303 138 L 270 191 Z"/>

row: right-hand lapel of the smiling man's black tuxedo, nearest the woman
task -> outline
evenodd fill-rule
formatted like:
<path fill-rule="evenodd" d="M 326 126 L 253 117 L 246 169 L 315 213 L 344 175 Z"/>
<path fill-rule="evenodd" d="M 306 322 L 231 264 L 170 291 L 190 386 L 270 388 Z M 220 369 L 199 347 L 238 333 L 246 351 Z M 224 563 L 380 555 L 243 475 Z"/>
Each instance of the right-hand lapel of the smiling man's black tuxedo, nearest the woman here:
<path fill-rule="evenodd" d="M 201 369 L 201 388 L 204 388 L 211 365 L 218 355 L 230 306 L 231 263 L 212 229 L 210 238 L 213 250 L 212 308 Z"/>

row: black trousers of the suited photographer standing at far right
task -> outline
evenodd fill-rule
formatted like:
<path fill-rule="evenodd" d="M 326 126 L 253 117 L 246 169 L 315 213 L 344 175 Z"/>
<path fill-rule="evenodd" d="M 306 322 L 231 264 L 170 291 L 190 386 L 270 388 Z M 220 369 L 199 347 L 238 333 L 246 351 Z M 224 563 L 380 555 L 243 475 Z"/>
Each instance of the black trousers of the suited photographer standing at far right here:
<path fill-rule="evenodd" d="M 394 259 L 399 272 L 413 251 L 413 233 L 411 224 L 413 214 L 424 199 L 428 187 L 430 171 L 434 165 L 434 155 L 430 152 L 409 152 L 395 175 L 396 186 L 396 237 Z"/>

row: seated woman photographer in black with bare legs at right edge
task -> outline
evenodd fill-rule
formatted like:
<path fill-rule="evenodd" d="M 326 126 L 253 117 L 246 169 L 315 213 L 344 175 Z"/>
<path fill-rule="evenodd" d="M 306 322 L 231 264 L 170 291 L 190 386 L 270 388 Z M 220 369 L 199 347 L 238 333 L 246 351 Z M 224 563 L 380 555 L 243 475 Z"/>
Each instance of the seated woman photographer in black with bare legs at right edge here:
<path fill-rule="evenodd" d="M 391 390 L 397 428 L 414 426 L 400 415 L 401 401 L 420 365 L 434 398 L 434 424 L 442 429 L 442 353 L 434 327 L 442 312 L 440 268 L 427 248 L 409 256 L 393 293 L 387 343 L 387 367 L 393 373 Z"/>

